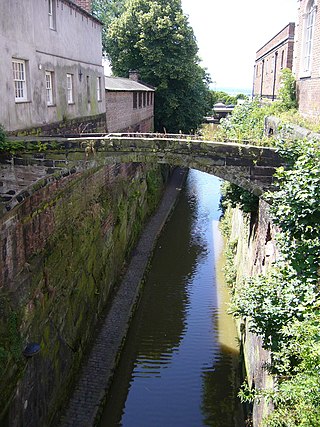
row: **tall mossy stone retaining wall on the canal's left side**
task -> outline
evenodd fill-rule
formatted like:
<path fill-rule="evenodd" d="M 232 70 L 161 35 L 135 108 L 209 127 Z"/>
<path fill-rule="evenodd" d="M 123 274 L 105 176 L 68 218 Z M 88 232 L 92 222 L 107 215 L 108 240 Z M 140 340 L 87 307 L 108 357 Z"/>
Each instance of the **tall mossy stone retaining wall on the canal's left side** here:
<path fill-rule="evenodd" d="M 167 171 L 116 164 L 75 172 L 1 217 L 2 426 L 50 425 Z M 27 359 L 30 342 L 41 350 Z"/>

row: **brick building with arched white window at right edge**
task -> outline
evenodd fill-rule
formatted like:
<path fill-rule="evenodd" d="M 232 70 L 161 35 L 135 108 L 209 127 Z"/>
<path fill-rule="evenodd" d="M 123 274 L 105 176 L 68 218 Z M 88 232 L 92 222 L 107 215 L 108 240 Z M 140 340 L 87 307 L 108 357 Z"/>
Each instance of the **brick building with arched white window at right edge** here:
<path fill-rule="evenodd" d="M 299 112 L 320 114 L 320 13 L 317 0 L 298 1 L 293 72 L 297 80 Z"/>

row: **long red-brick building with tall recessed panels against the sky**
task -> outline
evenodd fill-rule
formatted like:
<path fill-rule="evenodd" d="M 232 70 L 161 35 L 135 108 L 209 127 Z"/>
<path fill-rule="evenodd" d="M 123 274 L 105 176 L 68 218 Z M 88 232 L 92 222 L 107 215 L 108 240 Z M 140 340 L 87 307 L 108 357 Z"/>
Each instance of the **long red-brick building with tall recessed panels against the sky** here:
<path fill-rule="evenodd" d="M 292 69 L 295 24 L 290 22 L 256 53 L 253 96 L 276 99 L 281 70 Z"/>

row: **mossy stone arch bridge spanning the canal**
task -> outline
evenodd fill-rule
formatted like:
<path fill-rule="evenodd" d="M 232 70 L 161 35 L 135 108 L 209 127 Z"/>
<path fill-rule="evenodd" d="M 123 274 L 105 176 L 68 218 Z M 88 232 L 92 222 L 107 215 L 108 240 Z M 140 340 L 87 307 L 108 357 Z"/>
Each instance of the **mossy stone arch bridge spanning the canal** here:
<path fill-rule="evenodd" d="M 194 168 L 258 196 L 273 188 L 275 169 L 283 164 L 273 148 L 170 134 L 25 138 L 19 153 L 0 159 L 3 211 L 11 210 L 48 182 L 107 163 L 160 162 Z"/>

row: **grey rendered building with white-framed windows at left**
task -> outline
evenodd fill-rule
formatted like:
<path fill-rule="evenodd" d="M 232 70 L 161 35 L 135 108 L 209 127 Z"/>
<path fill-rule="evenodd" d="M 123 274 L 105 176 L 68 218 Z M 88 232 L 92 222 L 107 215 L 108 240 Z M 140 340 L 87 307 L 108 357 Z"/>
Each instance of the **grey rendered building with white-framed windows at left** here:
<path fill-rule="evenodd" d="M 3 1 L 0 123 L 42 134 L 105 124 L 102 24 L 90 0 Z"/>

